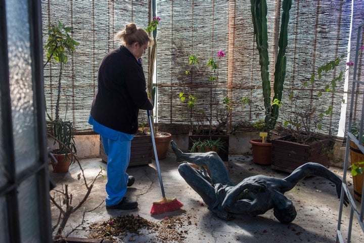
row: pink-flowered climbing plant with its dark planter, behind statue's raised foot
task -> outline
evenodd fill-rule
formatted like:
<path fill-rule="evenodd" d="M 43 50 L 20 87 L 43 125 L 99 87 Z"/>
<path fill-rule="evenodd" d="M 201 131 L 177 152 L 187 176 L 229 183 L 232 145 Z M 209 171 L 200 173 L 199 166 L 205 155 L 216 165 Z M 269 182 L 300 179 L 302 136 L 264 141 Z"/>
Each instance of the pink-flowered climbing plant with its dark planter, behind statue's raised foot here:
<path fill-rule="evenodd" d="M 185 71 L 184 90 L 178 94 L 178 98 L 180 102 L 186 103 L 189 114 L 189 150 L 192 149 L 194 141 L 219 139 L 223 142 L 224 149 L 220 149 L 218 155 L 223 161 L 228 161 L 228 131 L 234 129 L 232 118 L 234 117 L 235 108 L 248 104 L 250 100 L 248 98 L 234 100 L 228 95 L 221 96 L 217 94 L 219 81 L 218 62 L 225 55 L 223 51 L 218 51 L 216 55 L 217 61 L 214 58 L 209 58 L 206 61 L 206 65 L 202 66 L 199 58 L 191 54 L 188 59 L 188 69 Z M 195 84 L 198 86 L 200 83 L 203 83 L 202 86 L 207 88 L 209 92 L 207 96 L 206 93 L 199 95 L 195 92 Z M 206 103 L 205 107 L 207 106 L 208 108 L 201 108 Z"/>

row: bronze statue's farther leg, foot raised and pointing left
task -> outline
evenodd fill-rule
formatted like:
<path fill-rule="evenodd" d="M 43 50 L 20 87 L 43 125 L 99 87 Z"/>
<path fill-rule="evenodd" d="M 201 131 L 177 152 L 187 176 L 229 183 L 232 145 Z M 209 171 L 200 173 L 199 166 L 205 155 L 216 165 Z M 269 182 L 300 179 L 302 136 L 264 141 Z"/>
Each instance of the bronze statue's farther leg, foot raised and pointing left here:
<path fill-rule="evenodd" d="M 184 153 L 178 148 L 174 141 L 171 141 L 171 148 L 176 155 L 177 160 L 185 160 L 196 166 L 207 166 L 210 170 L 212 184 L 221 183 L 223 185 L 234 185 L 230 179 L 228 168 L 226 168 L 222 159 L 216 152 Z"/>

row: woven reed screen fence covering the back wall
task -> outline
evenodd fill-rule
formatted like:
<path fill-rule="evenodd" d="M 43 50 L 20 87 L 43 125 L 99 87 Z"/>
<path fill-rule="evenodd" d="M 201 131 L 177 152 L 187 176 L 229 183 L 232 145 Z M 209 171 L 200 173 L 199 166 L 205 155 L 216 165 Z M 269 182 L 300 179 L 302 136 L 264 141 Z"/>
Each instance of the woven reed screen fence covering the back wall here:
<path fill-rule="evenodd" d="M 351 84 L 349 82 L 347 88 L 344 82 L 339 83 L 335 93 L 324 92 L 321 97 L 317 93 L 347 68 L 347 61 L 353 61 L 354 50 L 350 47 L 356 42 L 356 34 L 350 35 L 350 31 L 356 33 L 357 25 L 364 20 L 364 5 L 360 0 L 353 1 L 353 8 L 351 1 L 292 2 L 286 81 L 279 121 L 282 124 L 294 112 L 314 110 L 312 116 L 317 119 L 312 120 L 320 120 L 322 125 L 322 130 L 316 132 L 336 136 L 342 129 L 342 109 L 345 110 L 345 104 L 350 102 L 346 95 L 347 90 L 351 90 Z M 250 104 L 235 108 L 231 126 L 254 124 L 264 119 L 259 57 L 250 3 L 247 3 L 236 0 L 156 0 L 157 15 L 161 18 L 157 28 L 156 115 L 158 124 L 168 132 L 186 132 L 186 129 L 180 128 L 188 127 L 189 112 L 187 104 L 179 99 L 181 92 L 194 94 L 197 98 L 196 109 L 212 117 L 223 108 L 222 99 L 225 97 L 250 99 Z M 273 80 L 282 1 L 267 3 L 269 73 L 270 80 Z M 150 9 L 151 1 L 42 1 L 43 32 L 46 33 L 50 24 L 60 20 L 74 28 L 72 37 L 80 42 L 64 70 L 62 82 L 65 89 L 61 105 L 63 115 L 68 108 L 66 117 L 73 121 L 78 131 L 91 128 L 87 119 L 97 90 L 98 67 L 103 56 L 118 46 L 113 41 L 113 35 L 128 22 L 147 27 Z M 216 57 L 220 50 L 226 53 L 225 57 Z M 190 75 L 186 75 L 192 54 L 198 57 L 200 64 L 194 67 Z M 342 54 L 348 57 L 333 72 L 326 73 L 320 82 L 309 83 L 311 73 Z M 211 75 L 206 65 L 209 58 L 214 58 L 219 66 L 215 85 L 208 80 Z M 148 53 L 143 63 L 147 77 Z M 51 113 L 55 105 L 57 73 L 56 65 L 44 69 L 45 97 Z M 350 67 L 346 75 L 351 80 Z M 359 78 L 362 75 L 362 70 L 358 70 Z M 308 85 L 304 87 L 306 82 Z M 292 100 L 289 98 L 291 94 L 294 95 Z M 325 114 L 329 106 L 333 107 L 332 115 L 320 118 L 320 113 Z M 144 113 L 141 122 L 143 120 L 147 123 Z M 312 123 L 311 126 L 314 130 L 316 125 Z"/>

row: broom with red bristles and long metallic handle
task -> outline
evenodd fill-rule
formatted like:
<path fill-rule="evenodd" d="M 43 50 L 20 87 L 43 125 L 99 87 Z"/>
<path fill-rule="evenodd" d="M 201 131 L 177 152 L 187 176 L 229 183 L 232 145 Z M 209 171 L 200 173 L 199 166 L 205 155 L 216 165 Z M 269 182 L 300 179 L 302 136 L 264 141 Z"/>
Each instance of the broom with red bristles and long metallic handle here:
<path fill-rule="evenodd" d="M 176 198 L 166 198 L 165 197 L 164 187 L 163 187 L 163 182 L 162 182 L 162 175 L 161 175 L 160 168 L 159 168 L 157 149 L 156 149 L 155 140 L 154 140 L 152 118 L 151 118 L 151 115 L 150 115 L 150 111 L 147 110 L 147 112 L 148 112 L 148 119 L 149 119 L 149 127 L 150 127 L 150 130 L 151 130 L 152 144 L 153 144 L 153 149 L 154 149 L 154 157 L 155 157 L 156 164 L 157 164 L 159 183 L 161 185 L 162 197 L 163 197 L 162 200 L 155 201 L 153 203 L 153 206 L 152 206 L 152 209 L 151 209 L 150 213 L 151 214 L 161 214 L 161 213 L 164 213 L 164 212 L 170 212 L 170 211 L 178 210 L 181 207 L 183 207 L 183 204 L 181 204 Z"/>

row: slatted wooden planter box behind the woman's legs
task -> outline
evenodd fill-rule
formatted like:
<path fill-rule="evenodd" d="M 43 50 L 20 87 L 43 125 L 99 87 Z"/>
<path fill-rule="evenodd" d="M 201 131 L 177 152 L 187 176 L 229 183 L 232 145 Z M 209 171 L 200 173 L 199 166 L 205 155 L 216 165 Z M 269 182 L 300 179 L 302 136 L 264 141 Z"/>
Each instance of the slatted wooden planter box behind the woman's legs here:
<path fill-rule="evenodd" d="M 153 144 L 150 135 L 135 135 L 131 140 L 129 166 L 141 166 L 152 163 Z M 107 163 L 104 146 L 100 138 L 100 158 Z"/>

